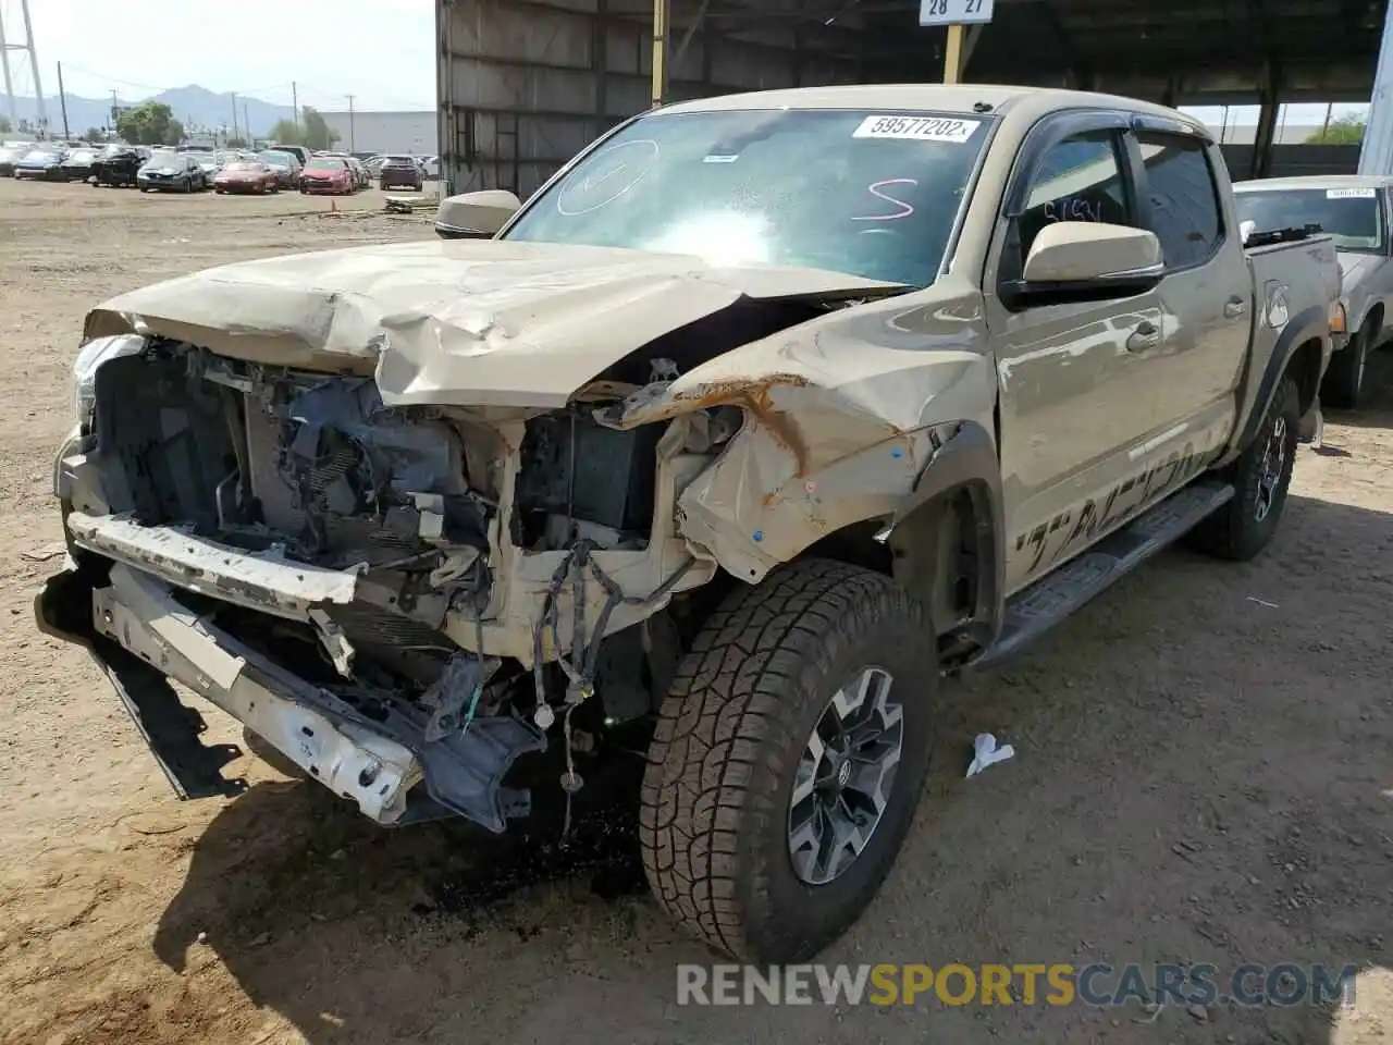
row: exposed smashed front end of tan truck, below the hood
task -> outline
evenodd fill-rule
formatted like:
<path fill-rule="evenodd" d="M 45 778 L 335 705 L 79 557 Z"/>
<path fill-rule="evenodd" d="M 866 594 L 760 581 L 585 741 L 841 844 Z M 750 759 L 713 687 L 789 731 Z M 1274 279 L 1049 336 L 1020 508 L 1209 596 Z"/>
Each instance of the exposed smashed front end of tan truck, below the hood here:
<path fill-rule="evenodd" d="M 59 478 L 81 562 L 104 571 L 95 627 L 279 750 L 315 748 L 302 768 L 375 819 L 462 814 L 501 830 L 529 810 L 504 783 L 514 762 L 560 722 L 561 787 L 578 789 L 574 755 L 651 713 L 684 614 L 713 595 L 695 589 L 716 563 L 674 504 L 741 408 L 628 429 L 606 411 L 713 341 L 827 307 L 717 314 L 553 411 L 387 407 L 372 378 L 145 339 L 98 369 Z M 191 656 L 199 644 L 241 665 L 221 688 Z M 288 722 L 298 733 L 277 736 Z M 326 755 L 327 732 L 359 741 Z"/>

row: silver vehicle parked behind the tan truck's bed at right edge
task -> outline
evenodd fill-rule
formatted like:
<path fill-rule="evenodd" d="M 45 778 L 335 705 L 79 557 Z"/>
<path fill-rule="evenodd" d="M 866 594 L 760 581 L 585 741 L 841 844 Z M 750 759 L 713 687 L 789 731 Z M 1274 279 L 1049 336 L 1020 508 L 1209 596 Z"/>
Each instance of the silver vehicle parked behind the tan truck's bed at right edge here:
<path fill-rule="evenodd" d="M 1344 322 L 1321 385 L 1322 403 L 1343 410 L 1360 405 L 1369 353 L 1390 336 L 1393 305 L 1393 237 L 1389 234 L 1389 187 L 1393 177 L 1344 174 L 1240 181 L 1234 205 L 1245 238 L 1282 229 L 1318 224 L 1340 259 Z"/>

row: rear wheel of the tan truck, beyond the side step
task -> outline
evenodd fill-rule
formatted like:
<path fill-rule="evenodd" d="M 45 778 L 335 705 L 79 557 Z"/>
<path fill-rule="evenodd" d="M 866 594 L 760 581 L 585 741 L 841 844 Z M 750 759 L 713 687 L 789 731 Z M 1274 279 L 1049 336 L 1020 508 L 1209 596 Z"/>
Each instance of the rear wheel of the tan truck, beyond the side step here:
<path fill-rule="evenodd" d="M 1287 504 L 1300 422 L 1301 396 L 1295 380 L 1286 376 L 1256 438 L 1222 472 L 1233 483 L 1233 499 L 1195 527 L 1191 543 L 1240 563 L 1268 546 Z"/>

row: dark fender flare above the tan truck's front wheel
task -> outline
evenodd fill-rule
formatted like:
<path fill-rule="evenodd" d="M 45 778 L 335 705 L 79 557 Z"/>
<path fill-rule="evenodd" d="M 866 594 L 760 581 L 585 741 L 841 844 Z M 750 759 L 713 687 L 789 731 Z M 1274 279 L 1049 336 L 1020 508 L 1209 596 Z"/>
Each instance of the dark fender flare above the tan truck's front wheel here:
<path fill-rule="evenodd" d="M 1006 510 L 1002 500 L 1002 461 L 996 439 L 981 424 L 964 421 L 957 433 L 931 458 L 914 490 L 890 521 L 889 543 L 900 555 L 896 534 L 946 495 L 967 493 L 972 503 L 978 562 L 976 605 L 968 637 L 989 648 L 1002 627 L 1006 588 Z"/>

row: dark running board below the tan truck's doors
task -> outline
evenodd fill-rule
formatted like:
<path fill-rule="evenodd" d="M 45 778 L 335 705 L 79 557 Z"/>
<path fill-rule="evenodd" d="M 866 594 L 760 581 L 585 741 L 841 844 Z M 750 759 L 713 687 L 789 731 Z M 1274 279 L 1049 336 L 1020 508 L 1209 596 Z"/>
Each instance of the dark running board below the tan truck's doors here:
<path fill-rule="evenodd" d="M 1234 489 L 1227 483 L 1197 482 L 1185 486 L 1025 588 L 1006 603 L 1000 638 L 972 667 L 988 667 L 1020 652 L 1156 552 L 1178 541 L 1233 495 Z"/>

